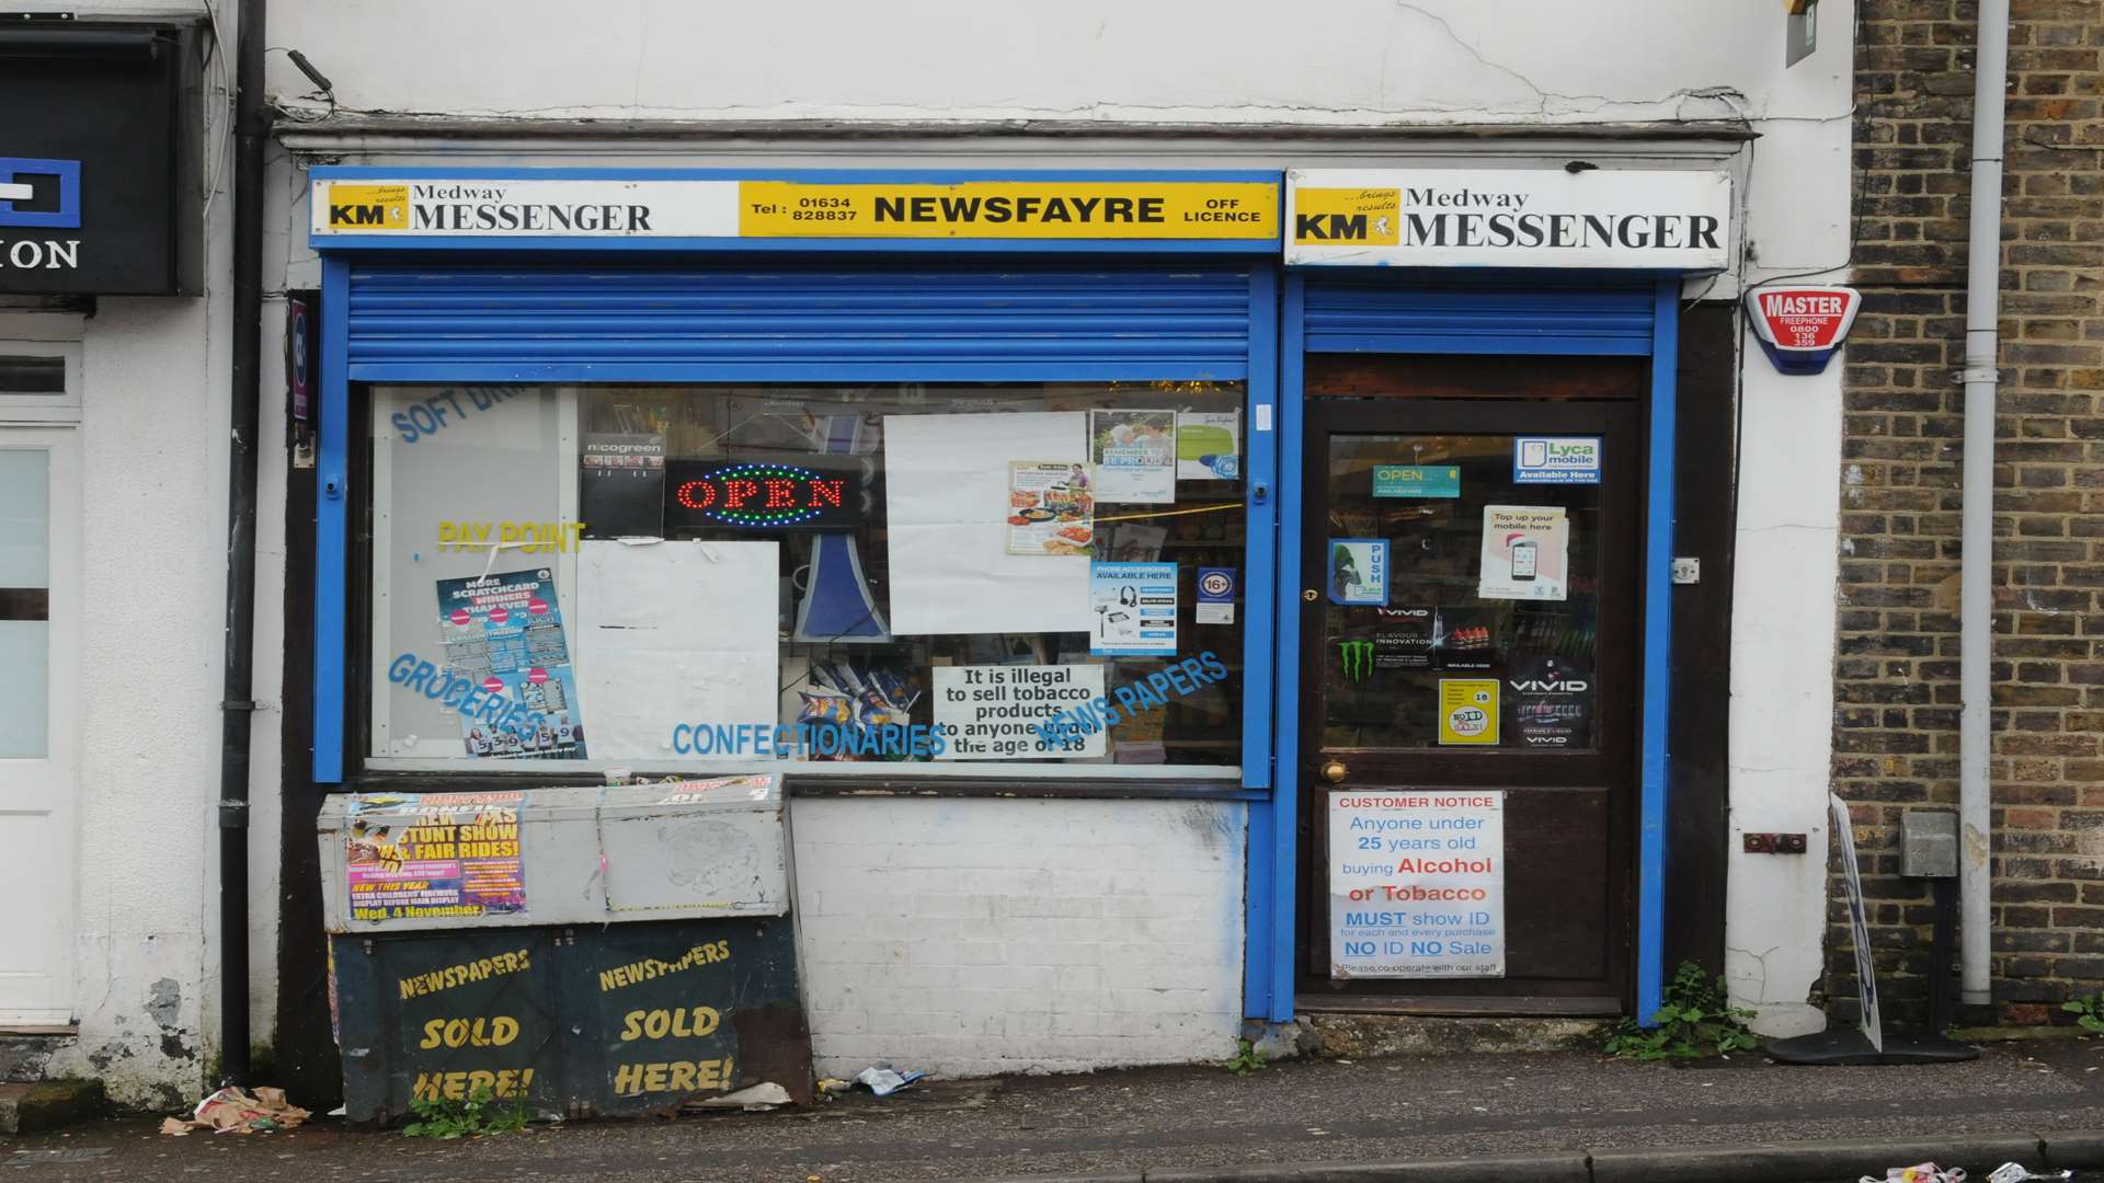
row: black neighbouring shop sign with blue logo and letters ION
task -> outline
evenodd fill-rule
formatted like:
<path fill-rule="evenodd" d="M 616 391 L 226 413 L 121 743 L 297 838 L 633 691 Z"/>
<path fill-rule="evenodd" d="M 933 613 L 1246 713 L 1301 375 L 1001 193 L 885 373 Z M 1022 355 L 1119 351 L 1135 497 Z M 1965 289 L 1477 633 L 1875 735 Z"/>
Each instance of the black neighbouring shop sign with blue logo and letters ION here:
<path fill-rule="evenodd" d="M 198 295 L 189 25 L 0 27 L 0 295 Z"/>

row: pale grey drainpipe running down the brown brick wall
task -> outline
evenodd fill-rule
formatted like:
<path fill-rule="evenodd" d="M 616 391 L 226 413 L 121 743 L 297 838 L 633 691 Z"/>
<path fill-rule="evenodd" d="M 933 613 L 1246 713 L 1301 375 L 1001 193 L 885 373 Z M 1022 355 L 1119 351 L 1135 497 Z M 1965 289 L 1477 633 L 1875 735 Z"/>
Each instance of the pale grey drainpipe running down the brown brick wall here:
<path fill-rule="evenodd" d="M 1965 514 L 1959 533 L 1959 983 L 1988 1006 L 1988 661 L 1995 638 L 1995 318 L 2001 312 L 2001 135 L 2009 0 L 1980 0 L 1974 51 L 1971 232 L 1965 242 Z"/>

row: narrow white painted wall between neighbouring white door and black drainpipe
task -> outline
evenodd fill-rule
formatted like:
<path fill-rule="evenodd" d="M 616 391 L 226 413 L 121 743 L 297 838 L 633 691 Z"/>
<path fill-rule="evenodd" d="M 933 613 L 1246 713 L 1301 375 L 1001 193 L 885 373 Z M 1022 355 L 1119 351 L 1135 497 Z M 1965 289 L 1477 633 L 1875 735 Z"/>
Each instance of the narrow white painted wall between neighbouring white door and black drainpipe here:
<path fill-rule="evenodd" d="M 53 1067 L 126 1105 L 191 1097 L 215 1061 L 225 312 L 103 299 L 82 322 L 80 1036 Z"/>

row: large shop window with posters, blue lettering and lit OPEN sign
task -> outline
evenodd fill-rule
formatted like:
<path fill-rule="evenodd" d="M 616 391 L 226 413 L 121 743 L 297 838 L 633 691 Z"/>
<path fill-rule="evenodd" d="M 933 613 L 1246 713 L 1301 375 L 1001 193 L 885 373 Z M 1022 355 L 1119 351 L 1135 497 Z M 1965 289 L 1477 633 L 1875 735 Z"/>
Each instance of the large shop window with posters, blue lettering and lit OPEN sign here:
<path fill-rule="evenodd" d="M 368 756 L 1233 775 L 1243 398 L 372 387 Z"/>

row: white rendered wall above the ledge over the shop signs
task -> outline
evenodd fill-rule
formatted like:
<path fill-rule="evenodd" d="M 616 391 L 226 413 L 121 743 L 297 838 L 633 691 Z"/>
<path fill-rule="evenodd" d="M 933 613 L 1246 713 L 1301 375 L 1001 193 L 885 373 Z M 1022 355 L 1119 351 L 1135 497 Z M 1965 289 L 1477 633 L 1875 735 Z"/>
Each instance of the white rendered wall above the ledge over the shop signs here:
<path fill-rule="evenodd" d="M 1845 74 L 1849 4 L 1822 8 Z M 1685 0 L 1546 23 L 1538 0 L 280 2 L 271 42 L 347 109 L 551 120 L 1607 122 L 1761 116 L 1793 88 L 1776 4 Z M 274 55 L 271 88 L 311 86 Z"/>

